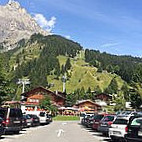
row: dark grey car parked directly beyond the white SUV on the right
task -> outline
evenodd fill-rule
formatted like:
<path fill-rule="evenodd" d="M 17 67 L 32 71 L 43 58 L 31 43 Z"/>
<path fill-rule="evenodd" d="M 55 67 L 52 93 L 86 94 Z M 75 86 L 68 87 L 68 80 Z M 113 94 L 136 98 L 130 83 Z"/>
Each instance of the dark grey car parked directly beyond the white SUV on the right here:
<path fill-rule="evenodd" d="M 110 126 L 113 123 L 115 118 L 116 118 L 115 115 L 104 116 L 103 119 L 100 121 L 100 125 L 98 127 L 98 131 L 102 132 L 104 135 L 108 135 L 109 128 L 110 128 Z"/>

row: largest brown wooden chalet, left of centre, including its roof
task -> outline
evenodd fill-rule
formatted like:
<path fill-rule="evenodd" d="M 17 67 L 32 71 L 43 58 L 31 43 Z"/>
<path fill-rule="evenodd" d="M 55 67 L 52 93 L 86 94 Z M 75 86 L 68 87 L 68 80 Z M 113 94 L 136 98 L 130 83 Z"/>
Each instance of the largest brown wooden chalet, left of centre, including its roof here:
<path fill-rule="evenodd" d="M 45 96 L 48 96 L 51 100 L 51 103 L 55 106 L 61 107 L 65 104 L 65 95 L 62 93 L 52 92 L 48 89 L 45 89 L 43 87 L 38 87 L 35 89 L 32 89 L 28 92 L 25 92 L 21 94 L 22 96 L 22 102 L 25 104 L 31 104 L 31 105 L 39 105 L 40 101 L 45 98 Z"/>

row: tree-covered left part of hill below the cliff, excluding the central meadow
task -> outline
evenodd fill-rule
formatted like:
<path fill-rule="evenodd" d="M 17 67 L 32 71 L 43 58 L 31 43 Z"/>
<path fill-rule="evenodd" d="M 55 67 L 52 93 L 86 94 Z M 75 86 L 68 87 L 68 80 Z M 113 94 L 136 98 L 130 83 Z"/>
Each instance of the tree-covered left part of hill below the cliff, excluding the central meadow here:
<path fill-rule="evenodd" d="M 33 35 L 22 48 L 15 57 L 11 56 L 11 66 L 15 66 L 14 70 L 12 68 L 13 81 L 28 77 L 32 87 L 48 86 L 48 75 L 55 75 L 58 79 L 60 74 L 68 69 L 67 65 L 60 68 L 57 56 L 74 58 L 82 49 L 79 44 L 56 35 L 47 37 Z"/>

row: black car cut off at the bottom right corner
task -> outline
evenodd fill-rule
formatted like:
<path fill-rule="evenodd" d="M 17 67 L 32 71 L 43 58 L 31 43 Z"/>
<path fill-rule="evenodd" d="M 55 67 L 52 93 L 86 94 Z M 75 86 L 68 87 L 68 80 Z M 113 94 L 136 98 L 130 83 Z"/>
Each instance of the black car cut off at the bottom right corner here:
<path fill-rule="evenodd" d="M 142 142 L 142 116 L 134 116 L 128 124 L 127 142 Z"/>

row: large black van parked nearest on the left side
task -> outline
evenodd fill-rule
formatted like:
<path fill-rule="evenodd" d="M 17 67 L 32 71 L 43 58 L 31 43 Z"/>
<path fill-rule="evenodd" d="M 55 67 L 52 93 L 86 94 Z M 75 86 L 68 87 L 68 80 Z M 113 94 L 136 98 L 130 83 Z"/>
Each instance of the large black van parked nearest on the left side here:
<path fill-rule="evenodd" d="M 22 130 L 23 114 L 19 108 L 0 108 L 0 117 L 4 120 L 5 132 L 19 133 Z"/>

